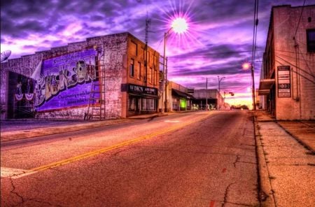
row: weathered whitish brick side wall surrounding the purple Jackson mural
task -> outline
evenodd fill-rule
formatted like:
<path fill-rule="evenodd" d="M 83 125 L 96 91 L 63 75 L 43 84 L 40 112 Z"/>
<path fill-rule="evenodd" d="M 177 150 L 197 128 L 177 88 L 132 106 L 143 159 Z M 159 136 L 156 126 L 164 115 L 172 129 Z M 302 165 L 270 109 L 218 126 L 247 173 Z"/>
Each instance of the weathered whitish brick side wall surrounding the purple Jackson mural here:
<path fill-rule="evenodd" d="M 87 41 L 69 43 L 69 45 L 52 48 L 48 51 L 36 52 L 34 55 L 27 55 L 18 59 L 9 59 L 8 62 L 1 64 L 1 108 L 7 110 L 8 71 L 30 77 L 38 63 L 41 62 L 41 59 L 66 55 L 71 52 L 92 48 L 96 45 L 102 49 L 101 54 L 99 54 L 99 59 L 101 68 L 105 70 L 106 74 L 106 118 L 122 117 L 122 93 L 120 92 L 120 87 L 126 73 L 125 64 L 123 64 L 123 62 L 124 55 L 127 52 L 127 36 L 127 33 L 123 33 L 87 38 Z M 53 110 L 46 113 L 37 113 L 36 117 L 45 119 L 82 120 L 86 111 L 87 107 L 64 108 L 62 110 Z M 1 119 L 4 118 L 6 118 L 6 113 L 1 114 Z"/>

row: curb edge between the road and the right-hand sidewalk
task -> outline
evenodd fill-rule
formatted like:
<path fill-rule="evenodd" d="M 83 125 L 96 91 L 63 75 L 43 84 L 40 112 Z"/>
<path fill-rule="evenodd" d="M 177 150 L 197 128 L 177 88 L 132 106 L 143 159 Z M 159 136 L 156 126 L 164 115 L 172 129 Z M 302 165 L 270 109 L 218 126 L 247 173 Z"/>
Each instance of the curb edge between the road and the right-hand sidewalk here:
<path fill-rule="evenodd" d="M 267 162 L 262 148 L 261 134 L 258 127 L 258 122 L 255 120 L 255 113 L 253 113 L 253 127 L 256 145 L 256 159 L 258 163 L 258 200 L 260 206 L 275 207 L 274 192 L 269 180 L 269 171 L 267 169 Z"/>

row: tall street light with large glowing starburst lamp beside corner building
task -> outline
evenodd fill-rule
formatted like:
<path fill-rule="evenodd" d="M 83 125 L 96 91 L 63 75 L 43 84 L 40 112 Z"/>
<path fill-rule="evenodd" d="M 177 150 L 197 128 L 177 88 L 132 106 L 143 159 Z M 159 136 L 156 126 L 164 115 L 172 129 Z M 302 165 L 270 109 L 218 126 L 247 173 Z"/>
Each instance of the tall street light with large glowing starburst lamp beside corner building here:
<path fill-rule="evenodd" d="M 167 58 L 165 57 L 166 53 L 166 45 L 167 45 L 167 36 L 170 34 L 170 32 L 175 31 L 176 34 L 182 34 L 183 32 L 187 31 L 188 24 L 186 20 L 182 17 L 176 18 L 171 25 L 171 28 L 167 30 L 164 34 L 164 50 L 163 50 L 163 74 L 165 74 L 165 112 L 167 112 L 167 67 L 166 67 L 166 61 Z M 162 99 L 162 106 L 163 106 L 163 99 Z M 163 108 L 162 108 L 163 111 Z"/>

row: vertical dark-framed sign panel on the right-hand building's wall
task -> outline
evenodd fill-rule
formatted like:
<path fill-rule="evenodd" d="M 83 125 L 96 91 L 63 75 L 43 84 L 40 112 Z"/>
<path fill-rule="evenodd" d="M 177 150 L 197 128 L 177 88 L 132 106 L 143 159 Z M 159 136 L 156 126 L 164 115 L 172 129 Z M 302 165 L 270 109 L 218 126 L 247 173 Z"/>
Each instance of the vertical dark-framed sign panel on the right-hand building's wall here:
<path fill-rule="evenodd" d="M 291 97 L 290 66 L 278 66 L 278 97 Z"/>

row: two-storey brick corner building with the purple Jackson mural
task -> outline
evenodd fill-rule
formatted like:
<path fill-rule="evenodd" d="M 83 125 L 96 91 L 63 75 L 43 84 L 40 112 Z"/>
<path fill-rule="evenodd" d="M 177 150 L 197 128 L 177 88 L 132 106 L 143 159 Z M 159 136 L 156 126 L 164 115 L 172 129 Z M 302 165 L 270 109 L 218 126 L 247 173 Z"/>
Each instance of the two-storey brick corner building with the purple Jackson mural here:
<path fill-rule="evenodd" d="M 121 33 L 8 59 L 1 63 L 1 119 L 155 113 L 159 58 L 132 34 Z"/>

